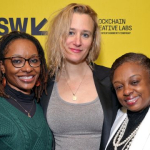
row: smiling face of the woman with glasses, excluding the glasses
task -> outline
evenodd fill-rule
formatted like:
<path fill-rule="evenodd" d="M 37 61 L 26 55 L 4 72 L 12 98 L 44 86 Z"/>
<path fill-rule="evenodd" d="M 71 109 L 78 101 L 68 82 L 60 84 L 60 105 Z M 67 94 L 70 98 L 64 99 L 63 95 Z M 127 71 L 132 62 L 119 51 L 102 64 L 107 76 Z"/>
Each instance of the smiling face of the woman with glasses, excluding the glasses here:
<path fill-rule="evenodd" d="M 5 58 L 23 57 L 29 59 L 34 56 L 38 56 L 38 51 L 31 41 L 27 39 L 16 39 L 9 44 Z M 15 60 L 15 63 L 20 62 L 19 60 Z M 10 59 L 5 59 L 1 65 L 1 71 L 5 73 L 9 86 L 22 93 L 30 94 L 31 89 L 34 87 L 40 75 L 40 66 L 33 68 L 26 61 L 23 67 L 16 68 L 12 65 Z"/>

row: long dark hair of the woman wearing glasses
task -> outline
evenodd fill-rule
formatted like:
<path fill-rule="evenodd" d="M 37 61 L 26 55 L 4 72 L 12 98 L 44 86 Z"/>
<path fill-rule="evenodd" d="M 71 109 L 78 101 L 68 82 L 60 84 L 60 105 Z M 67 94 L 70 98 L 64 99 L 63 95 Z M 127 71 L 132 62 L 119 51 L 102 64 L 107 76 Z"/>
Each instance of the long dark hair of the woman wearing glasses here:
<path fill-rule="evenodd" d="M 41 66 L 40 66 L 41 71 L 39 75 L 39 80 L 41 81 L 41 84 L 38 87 L 34 87 L 34 92 L 35 92 L 35 97 L 39 100 L 43 90 L 46 91 L 46 80 L 47 80 L 47 65 L 46 65 L 46 60 L 44 56 L 44 50 L 40 42 L 34 36 L 25 32 L 12 31 L 8 34 L 5 34 L 0 38 L 0 60 L 3 61 L 3 58 L 5 57 L 5 54 L 7 52 L 7 47 L 12 41 L 16 39 L 27 39 L 31 41 L 37 48 L 38 54 L 41 59 Z M 2 72 L 1 71 L 0 71 L 0 84 L 2 84 Z M 0 96 L 7 97 L 2 86 L 0 86 Z"/>

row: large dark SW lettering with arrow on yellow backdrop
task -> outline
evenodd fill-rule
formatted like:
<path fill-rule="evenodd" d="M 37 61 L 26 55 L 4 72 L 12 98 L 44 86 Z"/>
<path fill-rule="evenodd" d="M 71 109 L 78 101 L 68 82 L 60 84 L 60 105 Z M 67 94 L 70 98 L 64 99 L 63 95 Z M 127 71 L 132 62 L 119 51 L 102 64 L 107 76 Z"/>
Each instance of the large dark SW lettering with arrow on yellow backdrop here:
<path fill-rule="evenodd" d="M 26 32 L 29 18 L 0 18 L 0 36 L 9 33 L 10 31 L 18 30 Z M 31 34 L 43 35 L 47 34 L 47 31 L 41 31 L 41 28 L 47 23 L 47 19 L 43 19 L 40 22 L 36 22 L 36 18 L 31 18 Z M 10 30 L 8 28 L 10 25 Z"/>

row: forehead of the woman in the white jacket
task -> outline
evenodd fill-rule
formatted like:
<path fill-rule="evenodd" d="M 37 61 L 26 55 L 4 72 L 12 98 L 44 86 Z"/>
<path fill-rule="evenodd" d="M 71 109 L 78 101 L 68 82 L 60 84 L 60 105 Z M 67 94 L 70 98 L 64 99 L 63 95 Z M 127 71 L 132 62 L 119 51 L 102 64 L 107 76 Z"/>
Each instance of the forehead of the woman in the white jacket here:
<path fill-rule="evenodd" d="M 144 66 L 137 62 L 125 62 L 115 70 L 113 81 L 117 79 L 128 79 L 136 74 L 142 77 L 149 77 L 149 73 Z"/>

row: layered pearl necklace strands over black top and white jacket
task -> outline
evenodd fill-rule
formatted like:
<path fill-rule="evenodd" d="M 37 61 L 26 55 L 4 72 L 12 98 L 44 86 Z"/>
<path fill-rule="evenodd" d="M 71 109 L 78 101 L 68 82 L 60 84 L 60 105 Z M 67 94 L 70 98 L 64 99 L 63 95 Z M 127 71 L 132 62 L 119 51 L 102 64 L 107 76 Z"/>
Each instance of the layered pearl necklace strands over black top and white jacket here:
<path fill-rule="evenodd" d="M 125 140 L 120 142 L 126 131 L 128 121 L 129 121 L 129 119 L 128 119 L 128 117 L 126 117 L 124 122 L 122 123 L 120 129 L 118 130 L 117 134 L 115 135 L 115 137 L 113 139 L 114 150 L 117 150 L 117 147 L 119 147 L 123 144 L 124 144 L 124 146 L 123 146 L 122 150 L 129 150 L 129 148 L 131 146 L 132 140 L 134 139 L 140 125 Z"/>

